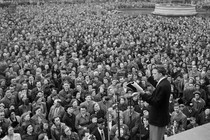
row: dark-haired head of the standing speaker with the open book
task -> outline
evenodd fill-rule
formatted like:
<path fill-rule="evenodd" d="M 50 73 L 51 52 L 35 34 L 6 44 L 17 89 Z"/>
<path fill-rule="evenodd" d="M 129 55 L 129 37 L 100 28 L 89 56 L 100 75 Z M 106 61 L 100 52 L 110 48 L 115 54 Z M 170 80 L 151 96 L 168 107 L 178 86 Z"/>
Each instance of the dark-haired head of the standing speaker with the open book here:
<path fill-rule="evenodd" d="M 163 66 L 157 66 L 152 70 L 154 80 L 159 81 L 166 75 L 166 70 Z"/>

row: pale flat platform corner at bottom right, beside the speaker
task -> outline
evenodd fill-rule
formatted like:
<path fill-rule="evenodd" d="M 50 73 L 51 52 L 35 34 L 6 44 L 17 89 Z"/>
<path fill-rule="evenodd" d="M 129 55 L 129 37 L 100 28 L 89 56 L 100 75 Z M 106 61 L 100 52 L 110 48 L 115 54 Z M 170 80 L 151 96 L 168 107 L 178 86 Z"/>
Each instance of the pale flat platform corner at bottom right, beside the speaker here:
<path fill-rule="evenodd" d="M 210 123 L 173 135 L 165 140 L 210 140 Z"/>

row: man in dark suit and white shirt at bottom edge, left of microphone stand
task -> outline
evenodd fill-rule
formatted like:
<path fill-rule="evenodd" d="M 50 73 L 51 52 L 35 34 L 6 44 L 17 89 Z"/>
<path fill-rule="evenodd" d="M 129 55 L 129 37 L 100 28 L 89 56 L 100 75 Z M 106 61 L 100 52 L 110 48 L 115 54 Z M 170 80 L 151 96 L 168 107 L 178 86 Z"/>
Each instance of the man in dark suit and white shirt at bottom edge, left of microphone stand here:
<path fill-rule="evenodd" d="M 98 127 L 93 131 L 93 135 L 96 137 L 97 140 L 108 140 L 108 131 L 104 127 L 104 119 L 98 119 L 97 123 Z"/>

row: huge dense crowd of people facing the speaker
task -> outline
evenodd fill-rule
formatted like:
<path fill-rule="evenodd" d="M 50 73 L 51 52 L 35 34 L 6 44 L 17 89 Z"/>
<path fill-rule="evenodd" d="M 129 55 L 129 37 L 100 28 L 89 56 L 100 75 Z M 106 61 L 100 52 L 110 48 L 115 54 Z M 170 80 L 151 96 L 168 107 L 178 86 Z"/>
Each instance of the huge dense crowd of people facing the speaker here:
<path fill-rule="evenodd" d="M 115 6 L 0 9 L 0 139 L 148 140 L 148 103 L 127 84 L 152 93 L 156 65 L 172 89 L 166 136 L 210 122 L 210 19 Z"/>

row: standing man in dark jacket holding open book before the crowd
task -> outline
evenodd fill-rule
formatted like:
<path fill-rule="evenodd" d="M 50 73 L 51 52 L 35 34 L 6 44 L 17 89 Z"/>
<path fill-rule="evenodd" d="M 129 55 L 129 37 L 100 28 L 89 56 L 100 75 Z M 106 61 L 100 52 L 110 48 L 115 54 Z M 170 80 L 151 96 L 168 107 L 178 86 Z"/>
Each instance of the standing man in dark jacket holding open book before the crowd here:
<path fill-rule="evenodd" d="M 152 94 L 147 94 L 136 82 L 132 85 L 140 93 L 143 100 L 151 106 L 149 112 L 150 140 L 163 140 L 165 127 L 170 122 L 169 97 L 171 85 L 166 77 L 166 70 L 163 66 L 157 66 L 152 70 L 153 77 L 148 80 L 156 87 Z"/>

